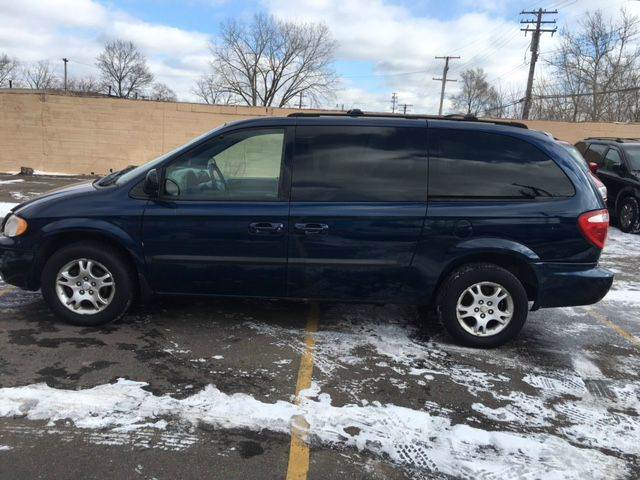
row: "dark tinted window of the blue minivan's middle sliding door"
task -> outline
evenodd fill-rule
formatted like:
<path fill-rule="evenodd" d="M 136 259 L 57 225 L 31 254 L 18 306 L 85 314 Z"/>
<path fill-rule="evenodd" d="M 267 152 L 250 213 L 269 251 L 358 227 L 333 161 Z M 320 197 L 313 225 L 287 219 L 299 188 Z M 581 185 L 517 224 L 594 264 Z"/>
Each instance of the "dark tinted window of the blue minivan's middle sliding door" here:
<path fill-rule="evenodd" d="M 426 129 L 297 127 L 291 198 L 426 201 Z"/>

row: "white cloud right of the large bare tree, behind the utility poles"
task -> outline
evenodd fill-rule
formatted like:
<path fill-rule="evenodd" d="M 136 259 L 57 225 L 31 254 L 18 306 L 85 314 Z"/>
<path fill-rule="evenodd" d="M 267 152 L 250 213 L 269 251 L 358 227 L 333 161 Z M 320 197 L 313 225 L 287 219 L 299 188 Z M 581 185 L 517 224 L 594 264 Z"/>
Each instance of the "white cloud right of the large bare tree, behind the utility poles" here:
<path fill-rule="evenodd" d="M 413 16 L 408 9 L 383 0 L 265 1 L 275 15 L 325 22 L 340 44 L 341 58 L 367 60 L 375 65 L 375 74 L 380 75 L 375 78 L 387 93 L 384 98 L 370 96 L 369 102 L 362 105 L 366 109 L 388 110 L 391 93 L 398 92 L 401 103 L 413 104 L 414 111 L 433 113 L 439 102 L 440 84 L 432 78 L 440 77 L 443 67 L 442 61 L 434 57 L 462 57 L 451 62 L 452 79 L 464 69 L 475 67 L 484 68 L 489 77 L 498 77 L 522 63 L 527 46 L 516 18 L 508 22 L 486 12 L 444 21 Z M 404 75 L 406 72 L 417 73 Z M 510 80 L 524 81 L 524 75 L 522 70 L 516 71 Z M 354 89 L 359 88 L 358 79 L 347 78 L 345 85 L 339 101 L 342 96 L 349 100 L 362 97 L 353 96 Z M 449 93 L 455 90 L 455 84 L 447 85 Z"/>

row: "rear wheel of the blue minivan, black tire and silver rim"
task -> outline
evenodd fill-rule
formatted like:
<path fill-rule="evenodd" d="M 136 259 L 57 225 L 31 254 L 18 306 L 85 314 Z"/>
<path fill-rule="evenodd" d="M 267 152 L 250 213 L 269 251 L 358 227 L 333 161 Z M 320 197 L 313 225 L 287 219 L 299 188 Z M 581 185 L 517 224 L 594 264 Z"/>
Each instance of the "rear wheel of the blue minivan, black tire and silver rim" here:
<path fill-rule="evenodd" d="M 436 300 L 438 317 L 459 343 L 492 348 L 513 339 L 528 312 L 527 293 L 508 270 L 488 263 L 466 265 L 447 277 Z"/>

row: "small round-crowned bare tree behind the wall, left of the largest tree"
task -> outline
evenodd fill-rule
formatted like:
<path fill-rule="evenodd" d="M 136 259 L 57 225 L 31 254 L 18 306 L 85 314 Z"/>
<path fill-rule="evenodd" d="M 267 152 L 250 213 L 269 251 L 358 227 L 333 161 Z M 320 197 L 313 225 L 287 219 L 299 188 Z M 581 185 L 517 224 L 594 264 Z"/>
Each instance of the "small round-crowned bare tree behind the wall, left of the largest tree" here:
<path fill-rule="evenodd" d="M 111 91 L 121 98 L 137 96 L 153 82 L 147 60 L 133 42 L 107 42 L 96 59 L 96 66 L 105 88 L 111 87 Z"/>

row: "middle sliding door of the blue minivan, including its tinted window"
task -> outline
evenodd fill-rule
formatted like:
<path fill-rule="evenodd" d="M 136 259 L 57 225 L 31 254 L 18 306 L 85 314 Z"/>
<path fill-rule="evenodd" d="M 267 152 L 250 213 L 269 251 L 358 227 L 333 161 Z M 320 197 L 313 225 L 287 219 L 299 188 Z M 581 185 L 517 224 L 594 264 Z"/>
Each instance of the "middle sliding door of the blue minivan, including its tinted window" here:
<path fill-rule="evenodd" d="M 426 122 L 298 126 L 288 293 L 399 299 L 426 213 Z"/>

